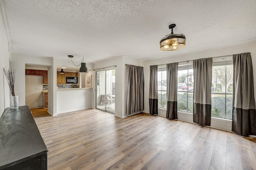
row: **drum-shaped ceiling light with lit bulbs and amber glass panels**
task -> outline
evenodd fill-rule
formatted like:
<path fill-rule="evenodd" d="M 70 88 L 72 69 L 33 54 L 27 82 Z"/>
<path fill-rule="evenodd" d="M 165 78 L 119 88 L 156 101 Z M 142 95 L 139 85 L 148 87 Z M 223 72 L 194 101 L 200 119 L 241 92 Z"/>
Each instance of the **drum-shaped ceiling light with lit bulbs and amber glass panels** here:
<path fill-rule="evenodd" d="M 160 40 L 160 49 L 163 51 L 172 51 L 176 49 L 181 49 L 185 47 L 186 37 L 184 34 L 173 34 L 173 28 L 176 27 L 176 24 L 171 24 L 169 29 L 172 29 L 172 33 L 170 35 L 166 35 L 166 37 Z"/>

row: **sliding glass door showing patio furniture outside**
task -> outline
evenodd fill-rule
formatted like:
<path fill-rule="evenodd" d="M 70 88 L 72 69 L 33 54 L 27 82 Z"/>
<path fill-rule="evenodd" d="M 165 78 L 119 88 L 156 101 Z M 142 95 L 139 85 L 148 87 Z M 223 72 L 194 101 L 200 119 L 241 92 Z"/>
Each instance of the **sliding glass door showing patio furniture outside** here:
<path fill-rule="evenodd" d="M 116 70 L 96 71 L 96 109 L 115 113 Z"/>

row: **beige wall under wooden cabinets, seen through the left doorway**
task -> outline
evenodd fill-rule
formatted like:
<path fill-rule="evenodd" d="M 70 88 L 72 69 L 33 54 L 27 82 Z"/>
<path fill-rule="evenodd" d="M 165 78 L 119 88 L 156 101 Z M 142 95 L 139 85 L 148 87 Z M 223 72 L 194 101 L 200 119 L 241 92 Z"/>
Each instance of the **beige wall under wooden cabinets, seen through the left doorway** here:
<path fill-rule="evenodd" d="M 26 75 L 26 101 L 25 105 L 29 108 L 37 108 L 43 106 L 43 76 Z"/>

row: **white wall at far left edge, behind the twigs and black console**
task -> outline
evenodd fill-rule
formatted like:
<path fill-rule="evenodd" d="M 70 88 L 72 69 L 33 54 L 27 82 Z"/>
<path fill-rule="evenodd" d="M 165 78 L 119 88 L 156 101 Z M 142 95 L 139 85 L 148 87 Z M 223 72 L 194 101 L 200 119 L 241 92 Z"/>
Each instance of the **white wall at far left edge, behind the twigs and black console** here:
<path fill-rule="evenodd" d="M 0 8 L 0 117 L 4 109 L 10 107 L 10 89 L 3 71 L 4 67 L 9 69 L 10 53 L 8 51 L 8 38 L 2 19 L 2 12 Z"/>

